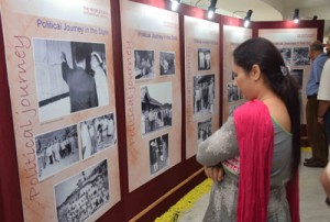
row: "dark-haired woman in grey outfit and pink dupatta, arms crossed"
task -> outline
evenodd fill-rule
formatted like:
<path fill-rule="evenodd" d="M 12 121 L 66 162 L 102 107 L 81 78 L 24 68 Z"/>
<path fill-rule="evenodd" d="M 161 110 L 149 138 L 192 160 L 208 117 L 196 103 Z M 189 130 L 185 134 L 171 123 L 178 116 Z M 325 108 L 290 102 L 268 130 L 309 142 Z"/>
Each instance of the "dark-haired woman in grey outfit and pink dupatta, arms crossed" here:
<path fill-rule="evenodd" d="M 204 221 L 299 221 L 296 82 L 265 38 L 239 45 L 233 62 L 234 84 L 249 101 L 198 146 L 197 160 L 215 180 Z"/>

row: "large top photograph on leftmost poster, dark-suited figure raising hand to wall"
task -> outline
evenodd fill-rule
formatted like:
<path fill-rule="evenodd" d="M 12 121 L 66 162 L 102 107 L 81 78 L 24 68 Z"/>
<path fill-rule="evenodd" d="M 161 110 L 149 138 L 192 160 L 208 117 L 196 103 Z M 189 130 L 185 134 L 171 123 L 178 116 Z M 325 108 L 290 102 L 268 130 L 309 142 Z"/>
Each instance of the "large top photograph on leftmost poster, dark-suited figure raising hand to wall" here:
<path fill-rule="evenodd" d="M 108 106 L 106 45 L 33 38 L 41 122 Z"/>

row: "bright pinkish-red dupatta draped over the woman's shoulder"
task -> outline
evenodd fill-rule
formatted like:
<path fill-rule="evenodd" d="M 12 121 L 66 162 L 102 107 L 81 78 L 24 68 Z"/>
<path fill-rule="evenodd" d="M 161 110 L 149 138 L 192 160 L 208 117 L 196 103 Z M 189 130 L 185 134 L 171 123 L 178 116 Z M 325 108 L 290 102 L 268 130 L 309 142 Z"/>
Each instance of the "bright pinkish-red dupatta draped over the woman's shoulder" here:
<path fill-rule="evenodd" d="M 267 107 L 258 100 L 238 108 L 233 118 L 240 148 L 238 221 L 265 222 L 274 151 L 273 122 Z M 290 182 L 290 192 L 295 193 L 294 200 L 289 201 L 293 222 L 299 221 L 299 213 L 295 214 L 299 212 L 297 181 Z M 293 213 L 293 210 L 296 212 Z"/>

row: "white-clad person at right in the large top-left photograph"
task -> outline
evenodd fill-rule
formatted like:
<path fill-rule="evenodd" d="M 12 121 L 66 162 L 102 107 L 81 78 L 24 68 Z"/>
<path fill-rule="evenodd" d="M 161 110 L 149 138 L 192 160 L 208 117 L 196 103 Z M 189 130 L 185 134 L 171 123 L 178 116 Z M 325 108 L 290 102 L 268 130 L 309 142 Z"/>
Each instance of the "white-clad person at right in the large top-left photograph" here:
<path fill-rule="evenodd" d="M 103 60 L 98 53 L 91 53 L 90 67 L 95 71 L 94 78 L 97 87 L 99 107 L 109 104 L 108 79 L 102 68 L 102 63 Z"/>

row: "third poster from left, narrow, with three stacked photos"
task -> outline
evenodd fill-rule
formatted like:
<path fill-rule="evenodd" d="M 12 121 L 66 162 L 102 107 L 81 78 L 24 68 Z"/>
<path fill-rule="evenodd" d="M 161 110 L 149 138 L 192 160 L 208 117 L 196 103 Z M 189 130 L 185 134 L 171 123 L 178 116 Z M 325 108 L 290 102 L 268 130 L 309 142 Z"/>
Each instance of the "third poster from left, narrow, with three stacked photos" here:
<path fill-rule="evenodd" d="M 184 16 L 186 158 L 219 129 L 220 26 L 217 22 Z"/>

